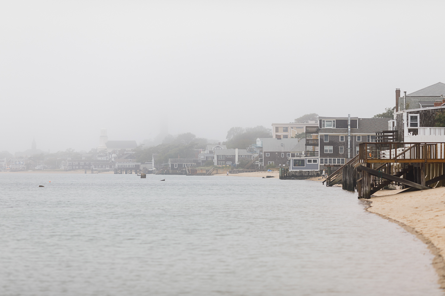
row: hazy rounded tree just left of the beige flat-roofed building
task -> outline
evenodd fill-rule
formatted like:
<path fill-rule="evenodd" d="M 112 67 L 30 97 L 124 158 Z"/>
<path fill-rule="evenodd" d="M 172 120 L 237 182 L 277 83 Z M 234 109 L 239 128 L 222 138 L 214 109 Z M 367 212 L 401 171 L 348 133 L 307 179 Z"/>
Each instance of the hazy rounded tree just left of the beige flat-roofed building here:
<path fill-rule="evenodd" d="M 223 144 L 228 149 L 246 149 L 256 138 L 271 138 L 272 130 L 264 126 L 255 127 L 232 127 L 227 131 L 227 141 Z"/>

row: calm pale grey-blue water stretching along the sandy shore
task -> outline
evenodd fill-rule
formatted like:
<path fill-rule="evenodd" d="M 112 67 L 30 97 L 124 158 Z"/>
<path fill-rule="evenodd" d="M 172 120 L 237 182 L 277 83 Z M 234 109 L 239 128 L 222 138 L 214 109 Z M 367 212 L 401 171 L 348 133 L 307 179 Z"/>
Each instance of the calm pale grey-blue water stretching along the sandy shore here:
<path fill-rule="evenodd" d="M 163 177 L 0 174 L 0 295 L 443 295 L 426 246 L 354 193 Z"/>

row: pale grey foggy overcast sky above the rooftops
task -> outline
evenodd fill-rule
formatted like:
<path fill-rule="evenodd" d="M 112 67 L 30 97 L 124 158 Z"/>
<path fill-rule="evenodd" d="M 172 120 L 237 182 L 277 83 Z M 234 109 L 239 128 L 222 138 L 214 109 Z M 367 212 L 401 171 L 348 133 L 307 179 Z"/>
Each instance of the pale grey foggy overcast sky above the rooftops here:
<path fill-rule="evenodd" d="M 445 2 L 1 1 L 0 150 L 225 140 L 444 82 Z M 167 123 L 168 122 L 168 123 Z"/>

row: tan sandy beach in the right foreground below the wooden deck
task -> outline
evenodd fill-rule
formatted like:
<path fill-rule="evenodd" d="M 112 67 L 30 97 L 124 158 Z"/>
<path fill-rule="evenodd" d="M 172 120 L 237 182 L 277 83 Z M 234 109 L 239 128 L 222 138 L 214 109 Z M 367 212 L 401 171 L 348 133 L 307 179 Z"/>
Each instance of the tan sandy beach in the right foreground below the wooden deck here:
<path fill-rule="evenodd" d="M 434 255 L 437 283 L 445 289 L 445 236 L 441 235 L 445 234 L 445 187 L 400 194 L 401 190 L 380 191 L 370 200 L 362 199 L 365 210 L 400 225 L 425 243 Z"/>

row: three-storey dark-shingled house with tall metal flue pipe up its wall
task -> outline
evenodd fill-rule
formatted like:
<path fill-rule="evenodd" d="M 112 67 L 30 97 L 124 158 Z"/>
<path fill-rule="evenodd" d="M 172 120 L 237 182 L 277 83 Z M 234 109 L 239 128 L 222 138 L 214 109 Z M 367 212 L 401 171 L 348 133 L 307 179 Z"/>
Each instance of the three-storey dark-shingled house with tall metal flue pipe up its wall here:
<path fill-rule="evenodd" d="M 376 132 L 386 130 L 391 118 L 350 117 L 351 134 L 348 138 L 348 117 L 319 117 L 320 170 L 339 167 L 353 158 L 362 142 L 376 142 Z M 348 154 L 348 142 L 350 154 Z"/>

